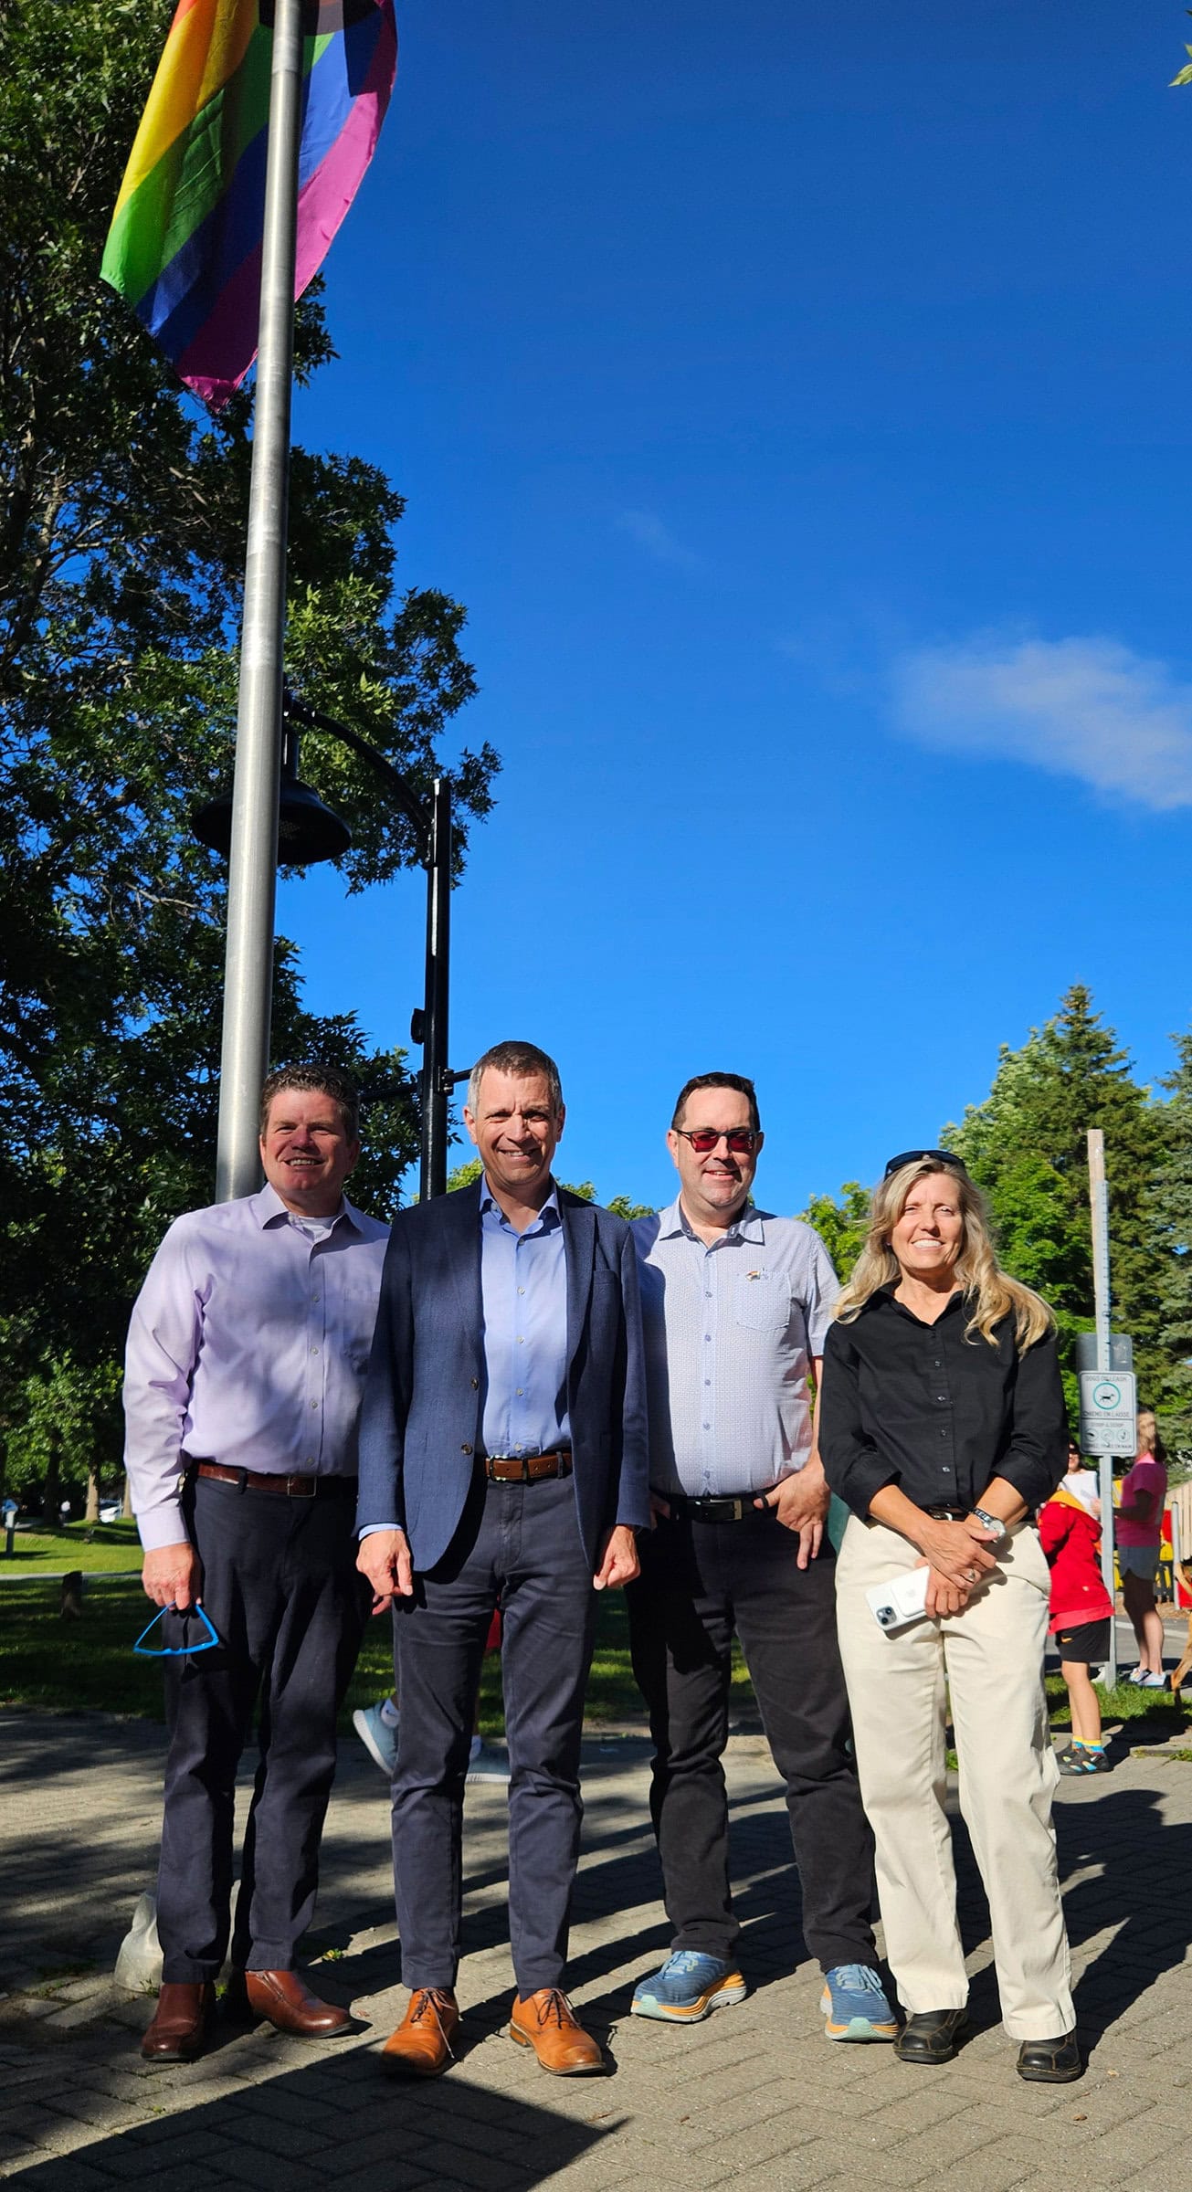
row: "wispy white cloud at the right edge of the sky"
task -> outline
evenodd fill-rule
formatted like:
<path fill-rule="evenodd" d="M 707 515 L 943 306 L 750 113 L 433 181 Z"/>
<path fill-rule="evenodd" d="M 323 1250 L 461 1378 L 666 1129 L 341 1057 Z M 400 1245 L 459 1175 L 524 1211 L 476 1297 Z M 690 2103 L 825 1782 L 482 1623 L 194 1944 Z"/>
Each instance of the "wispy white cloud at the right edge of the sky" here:
<path fill-rule="evenodd" d="M 1192 684 L 1118 640 L 977 633 L 894 660 L 898 728 L 949 754 L 997 754 L 1164 813 L 1192 807 Z"/>

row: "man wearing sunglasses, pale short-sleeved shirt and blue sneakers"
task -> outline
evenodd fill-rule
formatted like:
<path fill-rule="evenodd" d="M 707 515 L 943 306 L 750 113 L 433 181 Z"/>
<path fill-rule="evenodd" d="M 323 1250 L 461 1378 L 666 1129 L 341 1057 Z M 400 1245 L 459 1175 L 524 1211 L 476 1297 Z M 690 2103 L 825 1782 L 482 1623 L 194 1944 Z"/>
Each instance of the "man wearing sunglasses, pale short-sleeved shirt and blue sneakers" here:
<path fill-rule="evenodd" d="M 837 1278 L 811 1225 L 749 1197 L 763 1146 L 752 1081 L 688 1081 L 666 1146 L 679 1195 L 633 1223 L 653 1528 L 627 1600 L 655 1743 L 651 1817 L 673 1951 L 638 1984 L 633 2012 L 695 2023 L 745 1999 L 721 1767 L 736 1635 L 787 1784 L 826 2034 L 892 2041 L 806 1385 L 809 1370 L 820 1381 Z"/>

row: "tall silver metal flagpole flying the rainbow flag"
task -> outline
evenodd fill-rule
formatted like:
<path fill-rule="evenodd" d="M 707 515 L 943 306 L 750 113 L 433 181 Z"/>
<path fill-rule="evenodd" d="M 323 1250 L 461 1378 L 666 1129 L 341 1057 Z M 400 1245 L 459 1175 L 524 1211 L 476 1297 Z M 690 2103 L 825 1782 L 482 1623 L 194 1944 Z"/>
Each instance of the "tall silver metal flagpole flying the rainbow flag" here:
<path fill-rule="evenodd" d="M 224 962 L 215 1160 L 221 1203 L 252 1195 L 261 1181 L 256 1105 L 270 1068 L 300 129 L 302 0 L 276 0 Z"/>

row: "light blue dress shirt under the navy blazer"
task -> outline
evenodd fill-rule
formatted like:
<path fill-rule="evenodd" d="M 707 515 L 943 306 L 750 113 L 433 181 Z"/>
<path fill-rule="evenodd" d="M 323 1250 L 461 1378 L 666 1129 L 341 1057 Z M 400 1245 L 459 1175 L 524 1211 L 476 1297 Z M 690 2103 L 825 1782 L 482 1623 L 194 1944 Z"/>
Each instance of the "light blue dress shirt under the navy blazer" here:
<path fill-rule="evenodd" d="M 484 1453 L 570 1447 L 568 1254 L 552 1188 L 532 1225 L 515 1228 L 489 1188 L 480 1199 L 484 1309 Z"/>

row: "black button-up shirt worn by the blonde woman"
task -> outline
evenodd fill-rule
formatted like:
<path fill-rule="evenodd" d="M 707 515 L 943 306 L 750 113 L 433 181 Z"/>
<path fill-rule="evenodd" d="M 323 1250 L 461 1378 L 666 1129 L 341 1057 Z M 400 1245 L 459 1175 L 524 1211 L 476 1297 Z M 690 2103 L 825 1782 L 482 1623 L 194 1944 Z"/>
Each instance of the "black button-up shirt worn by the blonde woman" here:
<path fill-rule="evenodd" d="M 953 1293 L 942 1317 L 922 1324 L 883 1287 L 852 1324 L 828 1331 L 820 1453 L 828 1484 L 861 1519 L 883 1484 L 920 1508 L 971 1508 L 990 1477 L 1006 1477 L 1036 1508 L 1063 1477 L 1054 1337 L 1019 1355 L 1012 1317 L 995 1326 L 995 1346 L 964 1337 L 969 1317 L 971 1304 Z"/>

